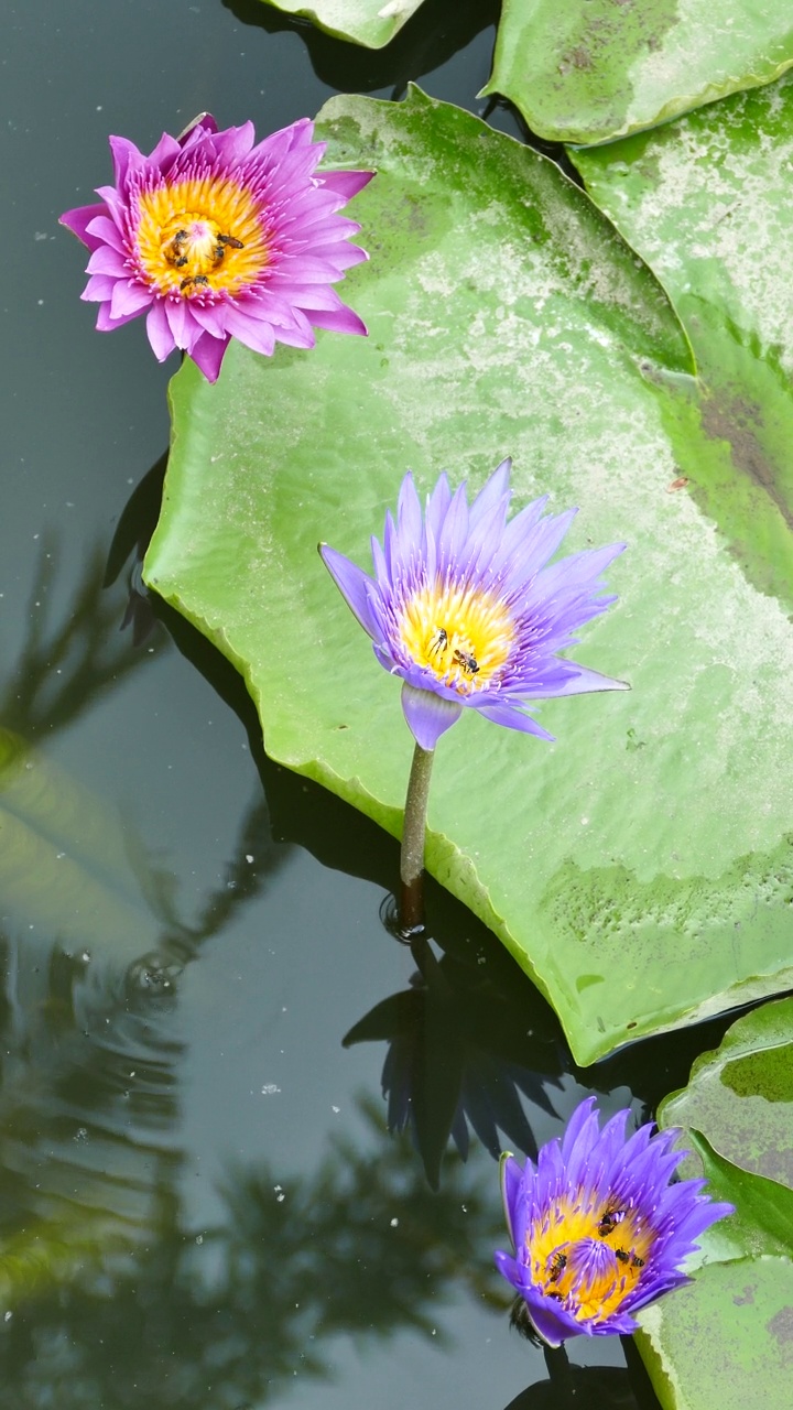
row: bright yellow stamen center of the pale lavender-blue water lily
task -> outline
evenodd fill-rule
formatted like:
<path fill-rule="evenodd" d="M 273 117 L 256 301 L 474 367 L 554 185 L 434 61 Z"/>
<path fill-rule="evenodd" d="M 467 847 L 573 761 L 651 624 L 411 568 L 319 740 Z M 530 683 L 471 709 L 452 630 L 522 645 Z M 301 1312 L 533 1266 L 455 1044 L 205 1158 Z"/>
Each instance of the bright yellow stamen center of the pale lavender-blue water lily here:
<path fill-rule="evenodd" d="M 460 695 L 492 685 L 515 642 L 512 618 L 500 598 L 440 581 L 405 603 L 399 634 L 408 656 Z"/>

